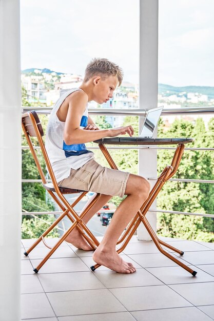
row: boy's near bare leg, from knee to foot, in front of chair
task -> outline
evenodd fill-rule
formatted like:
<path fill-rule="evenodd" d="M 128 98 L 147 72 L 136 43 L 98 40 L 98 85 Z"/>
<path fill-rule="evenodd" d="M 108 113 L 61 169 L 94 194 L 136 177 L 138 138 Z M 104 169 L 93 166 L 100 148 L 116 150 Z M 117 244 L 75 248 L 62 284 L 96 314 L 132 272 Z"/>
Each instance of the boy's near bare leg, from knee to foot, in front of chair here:
<path fill-rule="evenodd" d="M 133 265 L 125 262 L 115 247 L 120 235 L 148 197 L 149 190 L 150 186 L 145 178 L 129 175 L 125 190 L 127 197 L 114 212 L 101 244 L 94 251 L 94 262 L 119 273 L 135 272 Z"/>

